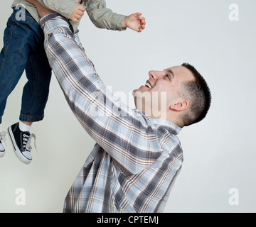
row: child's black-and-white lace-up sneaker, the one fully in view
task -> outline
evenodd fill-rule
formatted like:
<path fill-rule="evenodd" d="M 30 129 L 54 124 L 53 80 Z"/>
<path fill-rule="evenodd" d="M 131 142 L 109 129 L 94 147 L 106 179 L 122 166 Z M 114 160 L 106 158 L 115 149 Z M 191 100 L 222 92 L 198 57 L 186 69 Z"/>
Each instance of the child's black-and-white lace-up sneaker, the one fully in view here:
<path fill-rule="evenodd" d="M 31 156 L 31 139 L 35 138 L 36 135 L 30 134 L 29 132 L 22 132 L 18 128 L 18 123 L 8 128 L 8 133 L 11 138 L 11 142 L 14 145 L 14 153 L 21 162 L 29 164 L 32 161 Z"/>

